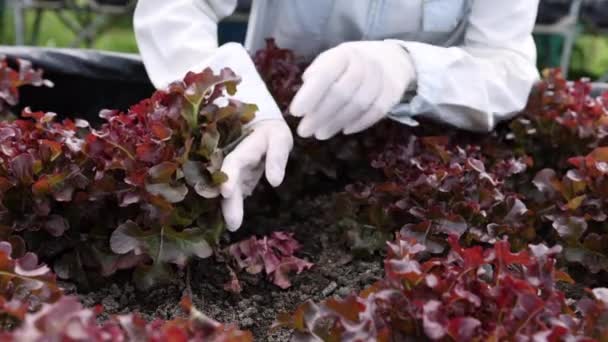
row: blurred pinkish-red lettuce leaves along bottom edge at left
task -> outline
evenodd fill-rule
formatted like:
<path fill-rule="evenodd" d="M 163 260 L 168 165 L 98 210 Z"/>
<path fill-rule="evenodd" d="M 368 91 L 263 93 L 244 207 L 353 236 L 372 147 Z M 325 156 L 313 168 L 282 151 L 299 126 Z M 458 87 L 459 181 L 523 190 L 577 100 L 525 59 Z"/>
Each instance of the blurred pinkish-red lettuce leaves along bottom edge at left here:
<path fill-rule="evenodd" d="M 62 297 L 54 304 L 45 304 L 35 313 L 25 315 L 14 331 L 0 332 L 2 341 L 253 341 L 248 331 L 226 326 L 212 320 L 192 304 L 183 301 L 188 317 L 150 323 L 135 314 L 114 317 L 97 324 L 99 308 L 86 309 L 76 297 Z"/>

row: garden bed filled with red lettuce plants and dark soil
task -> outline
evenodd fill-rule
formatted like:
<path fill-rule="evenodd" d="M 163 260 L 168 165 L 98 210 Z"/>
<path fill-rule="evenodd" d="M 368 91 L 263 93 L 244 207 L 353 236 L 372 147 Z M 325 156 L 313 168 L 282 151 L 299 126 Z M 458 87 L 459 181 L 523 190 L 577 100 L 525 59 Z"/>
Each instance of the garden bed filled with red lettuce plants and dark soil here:
<path fill-rule="evenodd" d="M 286 109 L 304 66 L 272 41 L 255 62 Z M 49 84 L 2 63 L 10 117 L 18 87 Z M 0 338 L 606 341 L 608 94 L 543 77 L 491 134 L 296 137 L 237 233 L 221 163 L 255 106 L 216 105 L 229 69 L 95 127 L 26 108 L 0 123 Z"/>

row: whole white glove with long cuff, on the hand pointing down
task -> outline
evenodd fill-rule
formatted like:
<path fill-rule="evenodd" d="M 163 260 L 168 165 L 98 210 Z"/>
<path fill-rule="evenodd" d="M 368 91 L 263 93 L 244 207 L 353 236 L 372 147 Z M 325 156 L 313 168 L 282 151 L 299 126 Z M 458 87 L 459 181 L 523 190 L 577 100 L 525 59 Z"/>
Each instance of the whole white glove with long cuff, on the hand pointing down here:
<path fill-rule="evenodd" d="M 242 79 L 234 99 L 258 106 L 247 128 L 252 132 L 224 159 L 222 171 L 222 214 L 230 231 L 243 222 L 243 200 L 251 195 L 266 170 L 266 179 L 277 187 L 283 182 L 293 137 L 281 110 L 266 88 L 245 48 L 236 43 L 221 46 L 209 59 L 191 70 L 211 67 L 215 72 L 229 67 Z"/>

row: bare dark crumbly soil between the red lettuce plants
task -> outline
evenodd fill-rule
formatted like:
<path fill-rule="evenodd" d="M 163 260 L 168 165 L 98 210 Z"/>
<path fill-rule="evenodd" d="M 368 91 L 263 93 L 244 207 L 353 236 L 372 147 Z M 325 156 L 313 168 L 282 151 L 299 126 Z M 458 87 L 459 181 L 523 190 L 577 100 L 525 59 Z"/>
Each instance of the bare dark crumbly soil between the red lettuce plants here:
<path fill-rule="evenodd" d="M 331 222 L 333 203 L 332 195 L 302 199 L 281 215 L 248 216 L 239 231 L 242 237 L 266 235 L 275 230 L 295 233 L 302 244 L 298 256 L 315 266 L 294 275 L 293 286 L 288 290 L 281 290 L 262 276 L 241 273 L 242 293 L 226 292 L 223 289 L 228 280 L 226 266 L 208 259 L 192 263 L 190 289 L 182 273 L 175 283 L 147 293 L 138 292 L 123 281 L 79 296 L 87 306 L 102 304 L 105 315 L 139 312 L 147 319 L 169 319 L 182 314 L 178 303 L 191 290 L 195 306 L 208 316 L 252 331 L 256 341 L 288 341 L 289 331 L 270 331 L 277 314 L 293 311 L 307 300 L 344 297 L 382 276 L 382 256 L 354 258 L 343 243 L 339 229 Z"/>

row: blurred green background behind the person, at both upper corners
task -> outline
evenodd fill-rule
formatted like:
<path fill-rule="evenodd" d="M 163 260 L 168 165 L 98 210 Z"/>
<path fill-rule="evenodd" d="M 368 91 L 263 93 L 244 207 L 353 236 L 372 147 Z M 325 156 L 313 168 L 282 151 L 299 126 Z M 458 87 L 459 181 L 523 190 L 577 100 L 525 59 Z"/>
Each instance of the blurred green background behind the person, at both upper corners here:
<path fill-rule="evenodd" d="M 167 0 L 170 1 L 170 0 Z M 0 45 L 83 47 L 136 53 L 136 0 L 0 0 Z M 220 25 L 220 41 L 242 41 L 251 0 Z M 608 0 L 541 0 L 535 28 L 539 68 L 608 80 Z"/>

